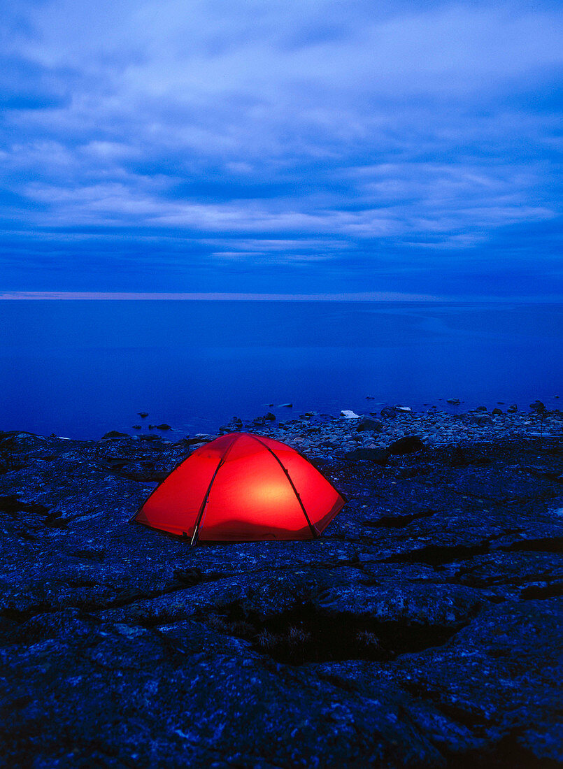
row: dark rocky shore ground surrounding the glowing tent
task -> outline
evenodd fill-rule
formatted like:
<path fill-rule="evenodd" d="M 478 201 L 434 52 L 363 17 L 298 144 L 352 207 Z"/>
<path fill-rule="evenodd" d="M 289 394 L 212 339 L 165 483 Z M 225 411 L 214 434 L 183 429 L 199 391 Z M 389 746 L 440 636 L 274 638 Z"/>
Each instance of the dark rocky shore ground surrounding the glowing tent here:
<path fill-rule="evenodd" d="M 348 496 L 322 538 L 198 548 L 128 522 L 193 445 L 0 433 L 0 765 L 563 763 L 561 438 L 330 429 L 263 428 Z"/>

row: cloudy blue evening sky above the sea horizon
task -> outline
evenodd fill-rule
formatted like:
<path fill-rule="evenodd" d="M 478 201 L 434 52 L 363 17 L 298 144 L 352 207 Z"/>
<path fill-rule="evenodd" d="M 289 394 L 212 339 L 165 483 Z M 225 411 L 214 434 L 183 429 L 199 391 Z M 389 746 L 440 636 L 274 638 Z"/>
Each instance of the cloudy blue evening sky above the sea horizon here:
<path fill-rule="evenodd" d="M 2 2 L 0 291 L 563 295 L 560 2 Z"/>

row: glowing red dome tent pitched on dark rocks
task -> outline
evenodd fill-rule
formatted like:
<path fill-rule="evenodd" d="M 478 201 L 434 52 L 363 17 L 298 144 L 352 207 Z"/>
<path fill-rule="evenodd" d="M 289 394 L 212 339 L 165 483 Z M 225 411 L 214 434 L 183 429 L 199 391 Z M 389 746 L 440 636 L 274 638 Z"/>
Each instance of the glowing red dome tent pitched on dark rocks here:
<path fill-rule="evenodd" d="M 313 539 L 345 505 L 290 446 L 229 433 L 196 449 L 165 478 L 135 521 L 205 541 Z"/>

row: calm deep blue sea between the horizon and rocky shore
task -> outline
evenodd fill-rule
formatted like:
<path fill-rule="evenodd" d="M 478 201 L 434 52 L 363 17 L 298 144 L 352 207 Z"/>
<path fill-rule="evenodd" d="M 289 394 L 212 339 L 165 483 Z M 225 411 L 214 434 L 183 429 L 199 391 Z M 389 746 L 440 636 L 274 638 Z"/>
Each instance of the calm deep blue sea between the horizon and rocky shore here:
<path fill-rule="evenodd" d="M 3 430 L 178 438 L 265 411 L 563 403 L 561 305 L 0 301 L 0 333 Z"/>

